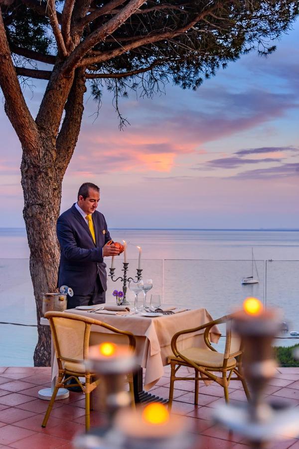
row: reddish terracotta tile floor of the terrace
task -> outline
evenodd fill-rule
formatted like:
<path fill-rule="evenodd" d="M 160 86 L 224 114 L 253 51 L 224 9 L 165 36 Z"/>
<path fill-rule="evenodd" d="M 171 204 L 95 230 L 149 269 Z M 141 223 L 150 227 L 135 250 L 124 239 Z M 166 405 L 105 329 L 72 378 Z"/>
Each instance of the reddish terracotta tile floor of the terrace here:
<path fill-rule="evenodd" d="M 38 390 L 50 386 L 50 368 L 8 367 L 0 368 L 0 449 L 54 449 L 72 448 L 73 438 L 85 431 L 84 395 L 70 393 L 68 399 L 56 401 L 47 427 L 41 422 L 48 406 L 38 399 Z M 185 417 L 190 431 L 199 436 L 195 449 L 241 449 L 248 447 L 237 434 L 216 427 L 211 413 L 218 404 L 224 403 L 223 390 L 216 384 L 199 389 L 199 405 L 193 405 L 193 382 L 175 382 L 172 412 Z M 150 392 L 168 398 L 169 369 Z M 288 401 L 299 407 L 299 368 L 279 368 L 266 391 L 267 400 Z M 231 402 L 244 401 L 240 382 L 232 382 Z M 99 426 L 101 415 L 91 412 L 91 425 Z M 299 431 L 298 431 L 299 433 Z M 269 444 L 271 449 L 299 449 L 298 439 Z"/>

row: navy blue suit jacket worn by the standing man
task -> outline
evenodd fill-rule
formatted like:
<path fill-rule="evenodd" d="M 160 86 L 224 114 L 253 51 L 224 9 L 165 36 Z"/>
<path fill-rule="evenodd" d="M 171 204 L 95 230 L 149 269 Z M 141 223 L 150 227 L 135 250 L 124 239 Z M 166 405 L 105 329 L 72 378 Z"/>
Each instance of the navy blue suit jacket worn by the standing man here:
<path fill-rule="evenodd" d="M 56 231 L 61 251 L 57 286 L 67 285 L 74 290 L 75 295 L 91 294 L 98 274 L 103 290 L 107 290 L 102 248 L 111 237 L 103 214 L 95 211 L 92 221 L 96 243 L 75 204 L 57 220 Z"/>

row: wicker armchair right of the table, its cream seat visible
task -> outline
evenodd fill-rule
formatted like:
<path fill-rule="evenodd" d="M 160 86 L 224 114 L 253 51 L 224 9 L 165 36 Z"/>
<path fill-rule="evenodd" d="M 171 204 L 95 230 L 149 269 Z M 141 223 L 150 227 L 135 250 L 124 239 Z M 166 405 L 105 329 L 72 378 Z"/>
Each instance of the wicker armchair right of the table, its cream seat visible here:
<path fill-rule="evenodd" d="M 229 402 L 228 386 L 232 380 L 240 380 L 242 382 L 247 400 L 250 399 L 249 391 L 242 374 L 242 347 L 240 346 L 239 338 L 232 336 L 231 333 L 231 320 L 232 315 L 223 316 L 217 320 L 210 321 L 206 324 L 198 326 L 193 329 L 186 329 L 177 332 L 171 339 L 171 349 L 173 355 L 168 357 L 167 361 L 170 363 L 170 387 L 169 387 L 169 402 L 168 408 L 171 409 L 174 381 L 176 380 L 194 380 L 195 392 L 194 392 L 194 404 L 198 404 L 198 390 L 199 380 L 211 380 L 217 382 L 224 389 L 225 401 Z M 213 346 L 211 346 L 209 340 L 209 332 L 211 328 L 217 324 L 226 323 L 226 342 L 224 354 L 219 353 Z M 197 332 L 204 329 L 204 342 L 206 348 L 188 348 L 178 350 L 177 339 L 180 335 Z M 233 343 L 232 344 L 232 340 Z M 237 341 L 236 341 L 237 340 Z M 237 345 L 236 345 L 237 343 Z M 231 349 L 231 346 L 237 346 Z M 177 377 L 176 373 L 181 366 L 194 368 L 194 377 Z M 216 376 L 214 373 L 219 372 L 222 376 Z M 232 375 L 234 374 L 234 377 Z"/>

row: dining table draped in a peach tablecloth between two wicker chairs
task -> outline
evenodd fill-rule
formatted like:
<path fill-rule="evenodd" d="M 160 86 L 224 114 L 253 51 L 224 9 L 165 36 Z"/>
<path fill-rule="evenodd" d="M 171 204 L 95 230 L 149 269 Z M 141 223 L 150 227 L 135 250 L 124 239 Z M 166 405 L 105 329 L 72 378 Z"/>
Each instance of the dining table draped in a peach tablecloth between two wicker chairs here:
<path fill-rule="evenodd" d="M 133 382 L 135 401 L 137 403 L 166 401 L 147 392 L 164 375 L 167 357 L 172 354 L 171 339 L 173 335 L 179 330 L 195 328 L 213 320 L 205 308 L 187 309 L 179 313 L 163 314 L 161 316 L 143 316 L 142 313 L 112 315 L 105 314 L 103 310 L 80 309 L 68 309 L 66 312 L 88 316 L 134 334 L 136 338 L 135 356 L 137 369 L 134 373 Z M 181 335 L 177 343 L 178 348 L 183 350 L 192 346 L 206 347 L 203 332 L 204 330 L 201 329 L 191 334 Z M 213 326 L 210 329 L 210 341 L 217 343 L 220 336 L 219 328 Z M 124 339 L 126 338 L 124 335 L 114 334 L 101 326 L 92 325 L 89 344 L 91 346 L 103 341 L 124 344 Z M 58 374 L 58 366 L 57 362 L 55 362 L 56 359 L 54 359 L 52 378 Z M 144 381 L 143 369 L 145 370 Z"/>

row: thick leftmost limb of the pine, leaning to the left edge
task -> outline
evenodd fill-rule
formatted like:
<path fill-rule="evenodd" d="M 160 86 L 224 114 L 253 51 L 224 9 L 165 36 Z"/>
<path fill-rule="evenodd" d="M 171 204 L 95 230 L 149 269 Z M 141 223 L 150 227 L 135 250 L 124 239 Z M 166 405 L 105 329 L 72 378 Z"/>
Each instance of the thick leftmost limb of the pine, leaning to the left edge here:
<path fill-rule="evenodd" d="M 5 98 L 5 112 L 23 148 L 32 153 L 39 148 L 38 128 L 29 112 L 11 60 L 0 9 L 0 87 Z M 17 111 L 17 113 L 16 113 Z"/>

